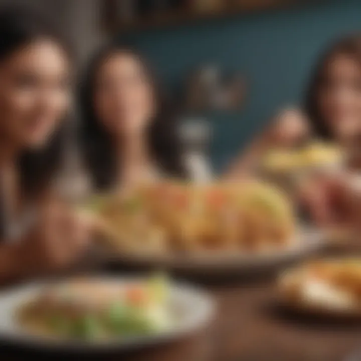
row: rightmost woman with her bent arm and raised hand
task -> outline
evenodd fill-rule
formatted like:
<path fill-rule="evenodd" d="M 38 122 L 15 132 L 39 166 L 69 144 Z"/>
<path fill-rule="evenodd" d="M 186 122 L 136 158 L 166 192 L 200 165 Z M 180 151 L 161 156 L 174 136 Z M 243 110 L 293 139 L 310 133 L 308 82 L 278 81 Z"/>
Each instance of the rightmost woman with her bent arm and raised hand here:
<path fill-rule="evenodd" d="M 361 139 L 361 36 L 333 44 L 321 57 L 303 109 L 287 109 L 248 147 L 231 174 L 248 171 L 270 148 L 296 146 L 310 136 L 357 152 Z"/>

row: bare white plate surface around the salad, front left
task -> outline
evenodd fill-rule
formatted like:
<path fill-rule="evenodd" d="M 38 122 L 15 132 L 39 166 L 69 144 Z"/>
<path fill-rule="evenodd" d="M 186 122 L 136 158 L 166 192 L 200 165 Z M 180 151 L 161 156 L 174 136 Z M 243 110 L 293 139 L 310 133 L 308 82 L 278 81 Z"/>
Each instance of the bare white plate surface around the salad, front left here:
<path fill-rule="evenodd" d="M 106 282 L 124 283 L 134 281 L 132 278 L 122 280 L 105 278 Z M 55 339 L 35 336 L 27 332 L 16 320 L 16 311 L 26 302 L 39 294 L 46 283 L 20 286 L 0 293 L 0 339 L 15 343 L 17 346 L 30 346 L 40 349 L 62 351 L 111 351 L 138 348 L 145 345 L 170 341 L 205 326 L 212 318 L 215 304 L 204 292 L 184 284 L 174 284 L 170 288 L 169 312 L 173 324 L 162 333 L 146 336 L 110 338 L 101 341 L 82 341 Z"/>

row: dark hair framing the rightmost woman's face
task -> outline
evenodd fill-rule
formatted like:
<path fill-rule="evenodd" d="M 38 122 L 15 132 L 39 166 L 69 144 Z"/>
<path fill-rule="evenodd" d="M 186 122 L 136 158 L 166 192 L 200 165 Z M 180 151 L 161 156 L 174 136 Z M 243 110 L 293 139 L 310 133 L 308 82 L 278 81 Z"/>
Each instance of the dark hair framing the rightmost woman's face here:
<path fill-rule="evenodd" d="M 311 82 L 306 92 L 305 111 L 316 134 L 325 139 L 332 138 L 332 134 L 327 127 L 325 119 L 322 119 L 320 114 L 317 93 L 320 84 L 324 79 L 324 69 L 337 55 L 340 54 L 349 55 L 354 58 L 359 62 L 361 67 L 361 35 L 357 34 L 342 38 L 326 49 L 317 63 L 311 77 Z"/>

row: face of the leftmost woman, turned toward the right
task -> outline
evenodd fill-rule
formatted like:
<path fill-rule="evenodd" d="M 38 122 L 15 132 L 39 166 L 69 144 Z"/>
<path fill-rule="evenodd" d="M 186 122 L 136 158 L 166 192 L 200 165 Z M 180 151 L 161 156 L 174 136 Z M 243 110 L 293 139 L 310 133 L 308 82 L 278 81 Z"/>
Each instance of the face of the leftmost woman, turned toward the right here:
<path fill-rule="evenodd" d="M 18 147 L 46 143 L 69 101 L 69 64 L 64 51 L 39 40 L 0 63 L 0 131 Z"/>

